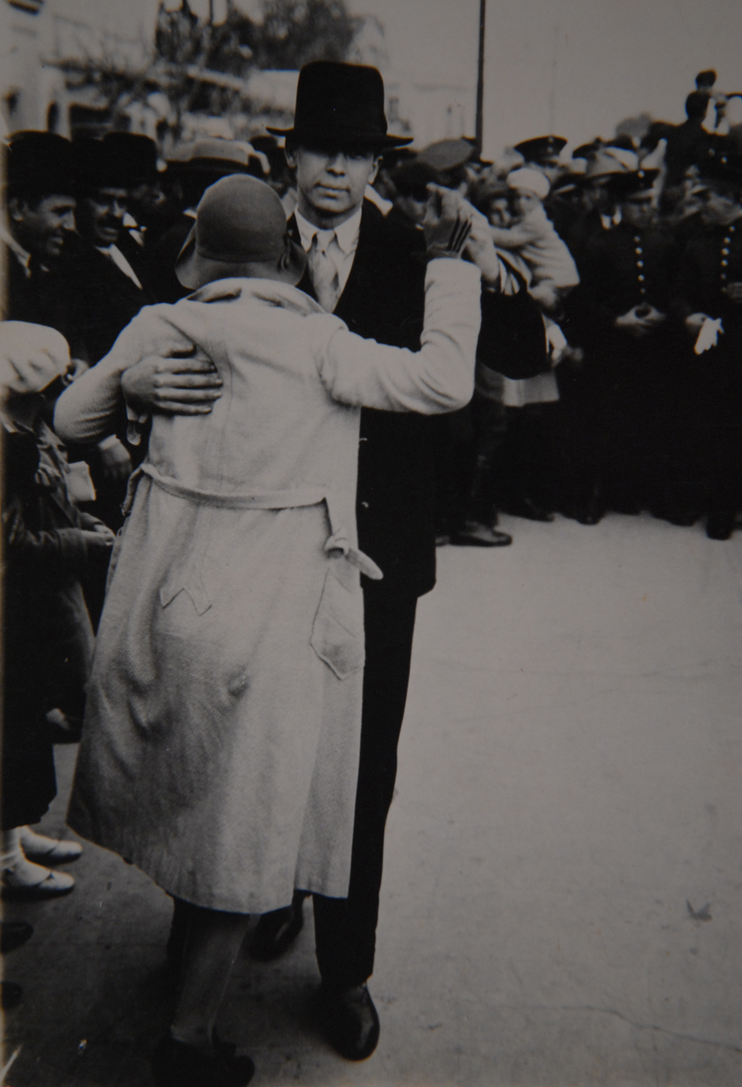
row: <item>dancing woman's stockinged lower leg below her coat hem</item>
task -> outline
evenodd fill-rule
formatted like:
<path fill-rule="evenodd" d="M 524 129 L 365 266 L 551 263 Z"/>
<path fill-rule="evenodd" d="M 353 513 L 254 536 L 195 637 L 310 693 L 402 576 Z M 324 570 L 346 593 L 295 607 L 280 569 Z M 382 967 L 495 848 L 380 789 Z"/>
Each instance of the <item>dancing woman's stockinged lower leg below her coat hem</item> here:
<path fill-rule="evenodd" d="M 180 996 L 171 1035 L 209 1052 L 214 1023 L 250 915 L 191 907 L 180 973 Z"/>

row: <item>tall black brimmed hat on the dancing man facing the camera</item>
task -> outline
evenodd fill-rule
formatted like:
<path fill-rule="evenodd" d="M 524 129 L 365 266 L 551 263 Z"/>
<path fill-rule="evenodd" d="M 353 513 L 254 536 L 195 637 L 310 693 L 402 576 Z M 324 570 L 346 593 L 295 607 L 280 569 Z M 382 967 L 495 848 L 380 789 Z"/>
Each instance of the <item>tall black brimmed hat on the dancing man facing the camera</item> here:
<path fill-rule="evenodd" d="M 275 136 L 315 146 L 403 147 L 412 137 L 388 136 L 383 79 L 375 67 L 314 61 L 299 73 L 292 128 Z"/>

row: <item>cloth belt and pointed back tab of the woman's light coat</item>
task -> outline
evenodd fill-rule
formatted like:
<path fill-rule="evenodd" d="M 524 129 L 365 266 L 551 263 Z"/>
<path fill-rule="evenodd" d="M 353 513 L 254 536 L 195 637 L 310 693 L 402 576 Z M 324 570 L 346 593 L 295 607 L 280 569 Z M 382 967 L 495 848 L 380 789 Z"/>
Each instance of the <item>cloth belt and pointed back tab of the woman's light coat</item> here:
<path fill-rule="evenodd" d="M 348 537 L 348 532 L 343 524 L 338 524 L 337 499 L 334 499 L 323 487 L 290 487 L 285 490 L 256 490 L 248 495 L 230 493 L 221 491 L 200 490 L 197 487 L 187 487 L 173 476 L 163 476 L 152 464 L 141 464 L 129 477 L 126 501 L 123 505 L 124 514 L 128 514 L 134 503 L 134 496 L 137 485 L 142 475 L 149 476 L 155 486 L 164 490 L 167 495 L 181 498 L 200 507 L 207 507 L 216 510 L 292 510 L 301 507 L 319 505 L 325 503 L 327 517 L 330 523 L 330 536 L 325 542 L 325 551 L 328 554 L 340 552 L 342 557 L 356 570 L 360 570 L 366 577 L 378 582 L 383 577 L 377 564 L 367 554 L 354 547 Z M 188 558 L 185 577 L 174 572 L 168 577 L 165 585 L 160 589 L 160 598 L 163 607 L 180 591 L 186 589 L 196 604 L 199 614 L 211 608 L 211 601 L 206 595 L 205 586 L 201 577 L 201 561 L 191 553 Z"/>

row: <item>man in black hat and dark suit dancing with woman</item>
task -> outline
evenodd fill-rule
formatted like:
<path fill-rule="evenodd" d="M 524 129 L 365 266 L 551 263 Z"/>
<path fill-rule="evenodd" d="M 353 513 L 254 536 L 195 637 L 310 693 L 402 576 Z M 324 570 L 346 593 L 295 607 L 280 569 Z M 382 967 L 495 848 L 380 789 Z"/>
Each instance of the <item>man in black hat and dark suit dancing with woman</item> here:
<path fill-rule="evenodd" d="M 289 228 L 309 254 L 309 273 L 300 288 L 342 317 L 352 332 L 417 349 L 425 310 L 423 236 L 386 220 L 364 200 L 383 150 L 410 142 L 387 135 L 381 76 L 361 65 L 307 64 L 300 74 L 293 128 L 284 135 L 299 189 Z M 486 282 L 495 289 L 499 263 L 489 232 L 470 246 Z M 488 325 L 488 309 L 486 289 L 482 340 L 496 335 L 491 321 Z M 156 391 L 148 385 L 147 367 L 140 371 L 144 375 L 143 388 L 136 390 L 140 403 L 149 402 L 155 410 L 167 405 L 167 410 L 202 411 L 207 410 L 210 397 L 218 396 L 206 367 L 187 367 L 191 372 L 185 388 L 178 389 L 173 367 L 166 360 L 160 364 Z M 137 379 L 137 368 L 123 380 L 128 395 L 135 391 L 130 383 Z M 397 774 L 416 603 L 436 579 L 432 499 L 428 421 L 364 409 L 359 541 L 383 571 L 383 579 L 363 579 L 366 665 L 349 896 L 314 898 L 325 1028 L 350 1060 L 370 1055 L 379 1036 L 366 982 L 374 969 L 383 835 Z M 253 952 L 268 959 L 285 950 L 301 928 L 301 911 L 299 894 L 291 908 L 263 917 Z"/>

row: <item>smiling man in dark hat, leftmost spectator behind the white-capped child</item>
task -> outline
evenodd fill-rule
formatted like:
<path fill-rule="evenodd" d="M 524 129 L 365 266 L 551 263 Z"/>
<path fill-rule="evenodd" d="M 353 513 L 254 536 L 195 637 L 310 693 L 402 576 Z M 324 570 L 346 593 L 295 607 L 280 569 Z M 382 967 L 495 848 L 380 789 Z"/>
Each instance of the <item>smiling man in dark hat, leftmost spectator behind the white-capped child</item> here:
<path fill-rule="evenodd" d="M 72 145 L 53 133 L 17 133 L 3 149 L 7 275 L 4 312 L 13 321 L 70 333 L 62 252 L 75 230 Z"/>

